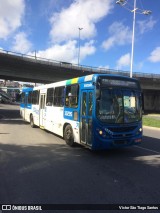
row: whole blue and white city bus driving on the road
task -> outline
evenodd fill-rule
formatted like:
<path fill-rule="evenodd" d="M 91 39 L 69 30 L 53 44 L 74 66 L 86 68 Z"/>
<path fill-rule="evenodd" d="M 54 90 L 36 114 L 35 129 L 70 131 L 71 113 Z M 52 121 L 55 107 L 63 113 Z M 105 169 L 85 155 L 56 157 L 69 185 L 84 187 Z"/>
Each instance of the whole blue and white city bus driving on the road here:
<path fill-rule="evenodd" d="M 133 78 L 93 74 L 24 89 L 20 113 L 70 146 L 98 150 L 142 141 L 141 88 Z"/>

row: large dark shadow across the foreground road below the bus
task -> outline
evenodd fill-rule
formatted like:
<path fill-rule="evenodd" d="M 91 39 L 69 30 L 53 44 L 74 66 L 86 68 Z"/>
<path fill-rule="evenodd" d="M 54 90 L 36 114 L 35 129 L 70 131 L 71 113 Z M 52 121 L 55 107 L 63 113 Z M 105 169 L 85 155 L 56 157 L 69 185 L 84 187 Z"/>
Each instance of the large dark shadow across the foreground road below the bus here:
<path fill-rule="evenodd" d="M 157 202 L 158 191 L 152 200 L 141 194 L 149 191 L 150 183 L 158 178 L 152 174 L 159 171 L 159 156 L 147 151 L 144 154 L 135 147 L 95 153 L 78 145 L 71 148 L 65 144 L 0 144 L 0 201 Z M 128 190 L 132 192 L 131 197 Z"/>

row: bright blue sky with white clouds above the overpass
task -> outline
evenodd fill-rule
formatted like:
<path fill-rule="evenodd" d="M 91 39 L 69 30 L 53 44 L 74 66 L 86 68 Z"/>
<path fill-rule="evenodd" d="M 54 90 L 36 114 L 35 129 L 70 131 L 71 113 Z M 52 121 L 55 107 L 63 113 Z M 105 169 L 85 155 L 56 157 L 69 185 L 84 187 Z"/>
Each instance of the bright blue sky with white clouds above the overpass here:
<path fill-rule="evenodd" d="M 136 6 L 133 72 L 160 74 L 160 0 Z M 133 9 L 134 0 L 0 0 L 0 50 L 129 71 Z"/>

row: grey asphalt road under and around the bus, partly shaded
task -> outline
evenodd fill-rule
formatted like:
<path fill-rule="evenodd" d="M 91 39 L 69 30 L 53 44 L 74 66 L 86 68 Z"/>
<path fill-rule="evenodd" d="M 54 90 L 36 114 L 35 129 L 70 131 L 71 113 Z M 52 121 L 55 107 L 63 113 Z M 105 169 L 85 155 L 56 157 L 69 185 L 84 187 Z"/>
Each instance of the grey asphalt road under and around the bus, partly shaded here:
<path fill-rule="evenodd" d="M 140 146 L 95 153 L 31 128 L 18 106 L 0 104 L 0 115 L 1 204 L 160 204 L 159 130 L 144 128 Z"/>

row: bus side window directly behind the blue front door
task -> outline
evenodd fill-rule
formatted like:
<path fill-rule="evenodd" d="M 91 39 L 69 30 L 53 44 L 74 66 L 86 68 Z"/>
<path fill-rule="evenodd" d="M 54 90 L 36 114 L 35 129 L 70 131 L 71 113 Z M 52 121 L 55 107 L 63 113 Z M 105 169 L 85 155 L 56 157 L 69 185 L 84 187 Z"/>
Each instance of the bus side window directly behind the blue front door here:
<path fill-rule="evenodd" d="M 71 108 L 78 107 L 79 85 L 70 85 L 66 87 L 65 106 Z"/>

